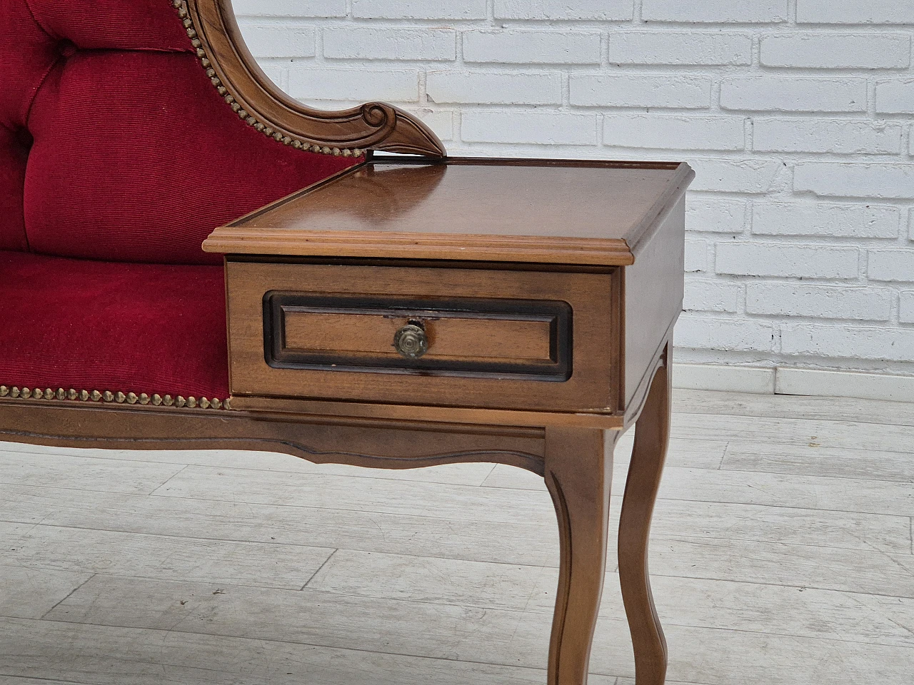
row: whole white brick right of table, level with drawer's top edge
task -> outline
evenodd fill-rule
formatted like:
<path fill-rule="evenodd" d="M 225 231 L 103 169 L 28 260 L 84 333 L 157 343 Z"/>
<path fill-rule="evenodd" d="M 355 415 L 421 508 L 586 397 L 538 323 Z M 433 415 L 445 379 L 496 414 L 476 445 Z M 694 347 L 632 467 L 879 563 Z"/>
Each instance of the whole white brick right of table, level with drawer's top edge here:
<path fill-rule="evenodd" d="M 857 248 L 828 245 L 717 243 L 717 273 L 737 276 L 855 279 Z"/>

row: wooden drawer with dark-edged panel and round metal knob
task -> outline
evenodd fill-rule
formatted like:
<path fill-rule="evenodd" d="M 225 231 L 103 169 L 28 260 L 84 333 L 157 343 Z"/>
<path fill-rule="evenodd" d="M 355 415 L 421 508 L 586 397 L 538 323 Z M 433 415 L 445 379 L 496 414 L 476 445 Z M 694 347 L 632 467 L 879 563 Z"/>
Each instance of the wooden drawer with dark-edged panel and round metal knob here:
<path fill-rule="evenodd" d="M 227 263 L 232 395 L 618 406 L 617 269 Z"/>

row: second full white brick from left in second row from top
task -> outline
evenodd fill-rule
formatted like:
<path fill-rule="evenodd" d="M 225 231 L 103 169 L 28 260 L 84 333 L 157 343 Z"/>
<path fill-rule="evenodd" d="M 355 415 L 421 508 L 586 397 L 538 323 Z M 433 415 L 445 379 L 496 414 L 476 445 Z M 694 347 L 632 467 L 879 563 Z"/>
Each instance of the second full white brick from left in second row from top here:
<path fill-rule="evenodd" d="M 464 31 L 463 60 L 505 64 L 600 64 L 600 34 Z"/>

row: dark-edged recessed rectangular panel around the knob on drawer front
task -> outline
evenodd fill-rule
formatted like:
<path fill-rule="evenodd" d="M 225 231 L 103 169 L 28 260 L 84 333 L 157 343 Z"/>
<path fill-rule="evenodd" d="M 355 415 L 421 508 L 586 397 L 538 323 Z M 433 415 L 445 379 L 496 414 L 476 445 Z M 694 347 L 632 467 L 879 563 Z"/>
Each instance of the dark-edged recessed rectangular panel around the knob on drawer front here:
<path fill-rule="evenodd" d="M 271 291 L 263 298 L 263 324 L 273 368 L 556 382 L 571 375 L 567 302 Z M 410 332 L 420 349 L 403 342 Z"/>

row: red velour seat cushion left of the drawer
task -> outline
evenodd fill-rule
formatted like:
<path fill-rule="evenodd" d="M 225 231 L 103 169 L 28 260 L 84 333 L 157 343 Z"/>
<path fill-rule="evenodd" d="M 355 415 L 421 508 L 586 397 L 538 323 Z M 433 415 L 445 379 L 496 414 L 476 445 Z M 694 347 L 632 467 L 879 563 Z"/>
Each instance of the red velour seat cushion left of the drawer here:
<path fill-rule="evenodd" d="M 222 267 L 0 252 L 0 385 L 228 397 Z"/>

